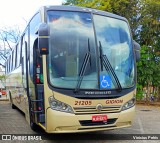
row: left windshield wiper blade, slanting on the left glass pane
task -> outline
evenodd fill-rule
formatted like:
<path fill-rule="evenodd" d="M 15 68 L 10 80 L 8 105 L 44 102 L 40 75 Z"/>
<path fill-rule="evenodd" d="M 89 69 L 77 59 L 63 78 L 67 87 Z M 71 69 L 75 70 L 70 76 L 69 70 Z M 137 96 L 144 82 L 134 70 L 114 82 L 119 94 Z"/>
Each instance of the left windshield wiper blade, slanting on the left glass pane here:
<path fill-rule="evenodd" d="M 75 93 L 77 93 L 79 91 L 79 88 L 81 86 L 82 79 L 84 77 L 84 73 L 86 71 L 86 67 L 87 67 L 87 64 L 88 64 L 90 57 L 91 57 L 90 53 L 87 52 L 85 54 L 85 57 L 84 57 L 84 60 L 83 60 L 82 66 L 81 66 L 81 70 L 79 72 L 78 82 L 77 82 L 76 88 L 74 90 Z"/>

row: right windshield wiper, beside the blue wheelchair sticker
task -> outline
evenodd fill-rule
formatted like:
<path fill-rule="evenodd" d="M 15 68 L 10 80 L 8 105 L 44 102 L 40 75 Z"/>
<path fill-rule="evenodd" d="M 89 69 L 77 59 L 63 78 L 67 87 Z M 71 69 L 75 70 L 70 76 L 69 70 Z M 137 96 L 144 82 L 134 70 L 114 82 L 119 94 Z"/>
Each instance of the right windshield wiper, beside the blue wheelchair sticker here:
<path fill-rule="evenodd" d="M 111 77 L 114 77 L 114 82 L 116 82 L 116 84 L 117 84 L 118 91 L 121 92 L 122 91 L 121 83 L 120 83 L 120 81 L 119 81 L 119 79 L 118 79 L 118 77 L 117 77 L 117 75 L 116 75 L 111 63 L 109 62 L 107 56 L 103 55 L 102 45 L 101 45 L 100 41 L 99 41 L 99 48 L 100 48 L 101 69 L 103 70 L 103 65 L 104 65 L 106 71 L 108 71 L 108 73 L 112 75 Z"/>

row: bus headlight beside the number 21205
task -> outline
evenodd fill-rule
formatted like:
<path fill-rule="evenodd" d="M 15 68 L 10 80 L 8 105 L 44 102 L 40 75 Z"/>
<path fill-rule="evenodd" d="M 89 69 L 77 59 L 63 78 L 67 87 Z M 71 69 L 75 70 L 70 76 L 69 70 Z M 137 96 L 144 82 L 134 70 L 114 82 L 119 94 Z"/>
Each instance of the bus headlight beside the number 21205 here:
<path fill-rule="evenodd" d="M 67 113 L 73 113 L 72 107 L 66 103 L 56 100 L 53 96 L 49 97 L 49 104 L 53 110 L 58 110 Z"/>

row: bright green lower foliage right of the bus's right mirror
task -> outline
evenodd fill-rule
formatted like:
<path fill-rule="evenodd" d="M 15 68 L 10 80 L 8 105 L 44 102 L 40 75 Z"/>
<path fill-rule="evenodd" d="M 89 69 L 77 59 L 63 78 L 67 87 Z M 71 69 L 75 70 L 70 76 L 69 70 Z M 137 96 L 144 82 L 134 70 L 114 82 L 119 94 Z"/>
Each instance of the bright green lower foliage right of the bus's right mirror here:
<path fill-rule="evenodd" d="M 147 99 L 149 99 L 150 87 L 160 87 L 160 58 L 150 46 L 143 45 L 141 47 L 141 59 L 137 63 L 137 75 L 138 85 L 147 87 Z M 142 89 L 137 87 L 138 97 L 142 97 L 141 92 Z"/>

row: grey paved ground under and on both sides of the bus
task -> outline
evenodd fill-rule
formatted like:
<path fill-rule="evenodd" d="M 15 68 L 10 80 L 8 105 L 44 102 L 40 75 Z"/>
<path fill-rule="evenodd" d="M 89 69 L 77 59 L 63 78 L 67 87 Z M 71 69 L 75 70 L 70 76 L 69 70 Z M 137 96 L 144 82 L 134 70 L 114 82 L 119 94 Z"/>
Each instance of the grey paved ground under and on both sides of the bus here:
<path fill-rule="evenodd" d="M 45 134 L 43 130 L 39 130 L 38 132 L 34 132 L 30 129 L 28 123 L 25 120 L 25 116 L 19 110 L 11 109 L 9 102 L 0 101 L 0 134 Z M 145 136 L 145 134 L 160 134 L 160 107 L 155 106 L 136 106 L 136 116 L 134 119 L 133 126 L 130 128 L 116 129 L 105 132 L 96 132 L 96 133 L 88 133 L 88 134 L 61 134 L 61 135 L 52 135 L 48 134 L 45 136 L 46 139 L 49 139 L 51 136 L 55 138 L 55 140 L 42 140 L 40 142 L 44 143 L 108 143 L 108 142 L 116 142 L 116 143 L 124 143 L 124 142 L 139 142 L 139 143 L 160 143 L 160 135 L 158 136 L 159 140 L 107 140 L 108 136 L 112 136 L 113 139 L 118 139 L 121 137 L 125 139 L 127 134 L 137 134 L 137 136 Z M 144 135 L 140 135 L 144 134 Z M 59 138 L 63 138 L 63 140 L 59 140 Z M 83 140 L 87 138 L 87 140 Z M 92 139 L 94 138 L 94 139 Z M 96 138 L 96 139 L 95 139 Z M 73 140 L 75 139 L 75 140 Z M 0 141 L 5 142 L 5 141 Z M 20 141 L 17 141 L 20 142 Z M 27 142 L 27 141 L 23 141 Z M 36 141 L 35 141 L 36 142 Z M 37 141 L 39 142 L 39 141 Z"/>

